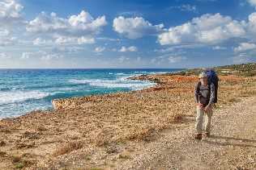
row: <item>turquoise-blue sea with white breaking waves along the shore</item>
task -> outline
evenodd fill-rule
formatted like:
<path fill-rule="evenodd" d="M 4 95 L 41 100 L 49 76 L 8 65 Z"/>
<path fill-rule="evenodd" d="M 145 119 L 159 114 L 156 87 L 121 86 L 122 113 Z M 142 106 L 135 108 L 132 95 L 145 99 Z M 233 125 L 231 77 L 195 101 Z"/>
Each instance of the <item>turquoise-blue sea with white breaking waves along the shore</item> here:
<path fill-rule="evenodd" d="M 52 110 L 52 100 L 128 92 L 156 85 L 128 77 L 172 73 L 172 68 L 0 69 L 0 119 Z"/>

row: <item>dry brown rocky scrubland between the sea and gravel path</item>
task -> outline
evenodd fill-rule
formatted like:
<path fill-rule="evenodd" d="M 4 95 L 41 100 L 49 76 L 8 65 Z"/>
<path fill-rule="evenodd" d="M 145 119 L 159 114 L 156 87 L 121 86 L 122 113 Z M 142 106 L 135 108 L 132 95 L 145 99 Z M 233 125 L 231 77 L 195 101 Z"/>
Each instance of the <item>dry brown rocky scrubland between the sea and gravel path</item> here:
<path fill-rule="evenodd" d="M 56 110 L 0 120 L 0 168 L 115 169 L 164 130 L 194 118 L 197 76 L 147 75 L 155 87 L 53 102 Z M 256 94 L 256 78 L 220 76 L 216 109 Z M 128 161 L 129 162 L 129 161 Z"/>

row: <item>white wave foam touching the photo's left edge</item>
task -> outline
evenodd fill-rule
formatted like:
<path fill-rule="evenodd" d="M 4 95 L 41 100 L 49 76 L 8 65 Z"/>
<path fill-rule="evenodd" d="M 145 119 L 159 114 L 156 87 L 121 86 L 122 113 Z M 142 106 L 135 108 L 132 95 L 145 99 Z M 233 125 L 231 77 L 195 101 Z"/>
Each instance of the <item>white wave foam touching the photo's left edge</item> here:
<path fill-rule="evenodd" d="M 41 99 L 49 96 L 50 93 L 41 91 L 8 91 L 0 93 L 0 105 L 10 104 L 15 102 L 24 102 L 28 99 Z"/>

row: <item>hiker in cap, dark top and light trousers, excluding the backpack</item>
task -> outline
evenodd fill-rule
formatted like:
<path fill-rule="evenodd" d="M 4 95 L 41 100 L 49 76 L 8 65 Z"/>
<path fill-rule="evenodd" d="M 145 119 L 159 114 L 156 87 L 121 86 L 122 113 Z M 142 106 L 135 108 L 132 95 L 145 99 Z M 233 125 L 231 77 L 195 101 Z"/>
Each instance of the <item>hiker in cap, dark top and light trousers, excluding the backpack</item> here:
<path fill-rule="evenodd" d="M 197 134 L 195 139 L 202 139 L 203 133 L 203 117 L 205 118 L 205 135 L 210 136 L 211 129 L 211 116 L 212 116 L 212 104 L 215 100 L 215 85 L 209 84 L 206 73 L 199 74 L 199 81 L 194 90 L 194 97 L 197 103 L 197 117 L 195 129 Z"/>

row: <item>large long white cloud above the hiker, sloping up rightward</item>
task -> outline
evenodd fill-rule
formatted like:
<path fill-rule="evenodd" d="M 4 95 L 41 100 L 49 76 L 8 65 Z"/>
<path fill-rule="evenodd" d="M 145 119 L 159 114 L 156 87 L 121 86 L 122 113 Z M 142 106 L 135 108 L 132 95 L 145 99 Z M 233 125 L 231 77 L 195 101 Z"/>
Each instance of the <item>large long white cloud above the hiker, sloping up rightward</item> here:
<path fill-rule="evenodd" d="M 202 15 L 181 26 L 170 27 L 169 31 L 158 36 L 165 44 L 217 44 L 226 39 L 245 35 L 245 28 L 236 20 L 219 13 Z"/>

